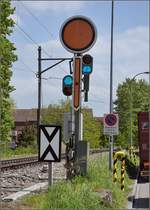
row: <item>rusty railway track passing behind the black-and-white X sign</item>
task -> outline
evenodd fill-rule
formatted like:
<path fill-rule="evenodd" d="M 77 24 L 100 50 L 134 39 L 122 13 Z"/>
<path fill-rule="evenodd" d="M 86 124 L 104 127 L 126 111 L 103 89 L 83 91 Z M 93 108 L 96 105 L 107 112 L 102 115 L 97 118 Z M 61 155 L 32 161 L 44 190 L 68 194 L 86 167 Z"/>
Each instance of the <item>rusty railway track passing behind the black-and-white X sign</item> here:
<path fill-rule="evenodd" d="M 109 151 L 108 149 L 91 149 L 90 154 L 103 153 L 103 152 L 108 152 L 108 151 Z M 61 159 L 64 159 L 64 158 L 65 158 L 65 153 L 62 153 Z M 0 169 L 3 171 L 3 170 L 12 169 L 12 168 L 24 167 L 26 165 L 31 165 L 31 164 L 38 164 L 38 163 L 40 163 L 38 161 L 38 156 L 5 159 L 5 160 L 1 160 Z"/>

